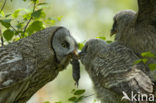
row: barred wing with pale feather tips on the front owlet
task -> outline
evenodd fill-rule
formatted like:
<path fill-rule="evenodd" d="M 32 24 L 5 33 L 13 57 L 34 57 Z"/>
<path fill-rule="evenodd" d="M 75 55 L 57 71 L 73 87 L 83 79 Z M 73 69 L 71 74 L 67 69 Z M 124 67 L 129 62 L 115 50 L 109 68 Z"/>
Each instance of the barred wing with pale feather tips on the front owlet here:
<path fill-rule="evenodd" d="M 103 56 L 104 54 L 104 56 Z M 104 50 L 95 57 L 93 70 L 99 83 L 104 88 L 117 93 L 129 92 L 153 92 L 153 84 L 150 78 L 142 71 L 143 64 L 134 65 L 137 56 L 127 49 L 113 48 Z"/>

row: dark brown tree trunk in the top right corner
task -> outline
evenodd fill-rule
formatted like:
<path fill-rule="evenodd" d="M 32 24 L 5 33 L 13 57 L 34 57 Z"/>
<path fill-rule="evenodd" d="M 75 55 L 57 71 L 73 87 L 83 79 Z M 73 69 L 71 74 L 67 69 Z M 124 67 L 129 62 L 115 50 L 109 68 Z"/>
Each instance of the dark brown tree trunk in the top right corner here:
<path fill-rule="evenodd" d="M 136 23 L 156 25 L 156 0 L 138 0 Z"/>

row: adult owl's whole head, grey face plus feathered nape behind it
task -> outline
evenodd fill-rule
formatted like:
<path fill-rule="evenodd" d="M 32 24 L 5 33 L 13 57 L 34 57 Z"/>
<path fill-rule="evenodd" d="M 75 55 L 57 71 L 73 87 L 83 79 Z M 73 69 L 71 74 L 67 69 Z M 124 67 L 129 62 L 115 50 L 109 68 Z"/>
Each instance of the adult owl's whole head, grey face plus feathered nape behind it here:
<path fill-rule="evenodd" d="M 40 61 L 56 64 L 60 70 L 63 70 L 71 57 L 76 55 L 77 43 L 65 27 L 49 27 L 32 35 L 31 38 L 35 40 Z"/>

